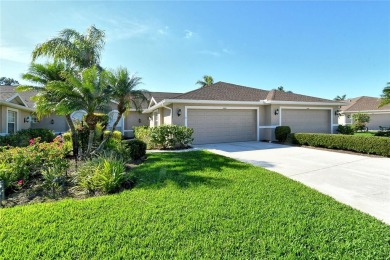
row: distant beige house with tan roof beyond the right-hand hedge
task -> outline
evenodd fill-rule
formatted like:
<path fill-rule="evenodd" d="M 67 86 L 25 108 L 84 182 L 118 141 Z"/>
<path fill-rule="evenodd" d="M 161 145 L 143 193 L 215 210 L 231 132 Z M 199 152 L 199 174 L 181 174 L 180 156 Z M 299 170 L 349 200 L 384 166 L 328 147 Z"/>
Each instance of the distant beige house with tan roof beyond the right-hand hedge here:
<path fill-rule="evenodd" d="M 370 116 L 367 124 L 369 130 L 379 130 L 380 126 L 390 127 L 390 105 L 379 107 L 380 98 L 362 96 L 348 102 L 348 105 L 340 108 L 339 124 L 353 124 L 353 114 L 365 113 Z"/>

